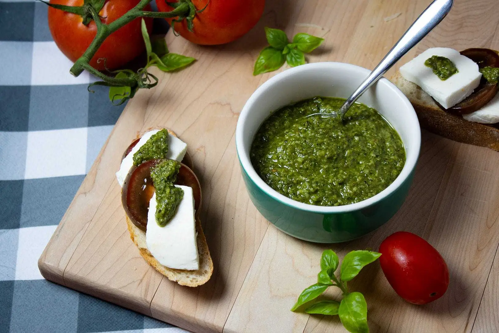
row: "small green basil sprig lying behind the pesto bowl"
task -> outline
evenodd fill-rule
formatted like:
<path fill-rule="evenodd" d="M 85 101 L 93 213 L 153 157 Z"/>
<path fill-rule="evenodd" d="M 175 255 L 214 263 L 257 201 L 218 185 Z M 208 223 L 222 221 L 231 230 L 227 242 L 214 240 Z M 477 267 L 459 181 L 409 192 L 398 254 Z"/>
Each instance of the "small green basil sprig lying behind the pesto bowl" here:
<path fill-rule="evenodd" d="M 280 29 L 265 27 L 265 35 L 270 46 L 261 50 L 254 63 L 253 75 L 279 69 L 287 62 L 291 67 L 305 63 L 305 54 L 316 49 L 324 40 L 308 33 L 297 33 L 290 43 L 286 33 Z"/>

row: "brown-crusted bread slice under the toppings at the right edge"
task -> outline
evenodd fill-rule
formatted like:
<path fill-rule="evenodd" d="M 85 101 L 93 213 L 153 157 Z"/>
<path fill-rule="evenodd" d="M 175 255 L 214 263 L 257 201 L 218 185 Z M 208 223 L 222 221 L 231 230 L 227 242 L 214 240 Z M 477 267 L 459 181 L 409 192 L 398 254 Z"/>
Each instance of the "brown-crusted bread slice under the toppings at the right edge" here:
<path fill-rule="evenodd" d="M 411 101 L 421 127 L 454 141 L 499 151 L 499 128 L 496 124 L 468 121 L 442 110 L 431 96 L 399 71 L 390 79 Z"/>

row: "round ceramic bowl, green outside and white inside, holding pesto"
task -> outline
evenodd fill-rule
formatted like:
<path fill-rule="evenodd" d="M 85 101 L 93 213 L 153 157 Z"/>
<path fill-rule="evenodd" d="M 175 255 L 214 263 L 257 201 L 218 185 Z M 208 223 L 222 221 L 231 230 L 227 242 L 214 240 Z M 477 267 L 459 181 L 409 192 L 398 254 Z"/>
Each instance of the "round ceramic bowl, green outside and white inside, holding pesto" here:
<path fill-rule="evenodd" d="M 311 242 L 336 243 L 361 237 L 387 222 L 404 202 L 421 146 L 416 112 L 390 81 L 380 79 L 358 100 L 374 107 L 397 130 L 406 149 L 400 175 L 385 190 L 364 201 L 335 207 L 304 204 L 278 193 L 256 174 L 250 147 L 261 123 L 275 110 L 314 96 L 347 98 L 370 70 L 347 63 L 318 62 L 285 70 L 251 95 L 239 116 L 236 148 L 251 201 L 278 229 Z"/>

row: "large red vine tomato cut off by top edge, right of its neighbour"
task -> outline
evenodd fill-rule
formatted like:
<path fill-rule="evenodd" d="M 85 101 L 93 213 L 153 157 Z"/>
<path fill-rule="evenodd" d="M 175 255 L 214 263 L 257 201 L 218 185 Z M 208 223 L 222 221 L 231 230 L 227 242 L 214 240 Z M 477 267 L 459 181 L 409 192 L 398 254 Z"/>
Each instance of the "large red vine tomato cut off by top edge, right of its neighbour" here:
<path fill-rule="evenodd" d="M 177 2 L 173 0 L 171 2 Z M 238 39 L 258 22 L 265 0 L 192 0 L 198 10 L 193 20 L 193 32 L 187 28 L 186 20 L 175 23 L 175 30 L 182 37 L 196 44 L 217 45 Z M 156 1 L 158 10 L 171 11 L 165 0 Z M 207 5 L 208 4 L 208 5 Z M 172 23 L 173 18 L 167 18 Z"/>

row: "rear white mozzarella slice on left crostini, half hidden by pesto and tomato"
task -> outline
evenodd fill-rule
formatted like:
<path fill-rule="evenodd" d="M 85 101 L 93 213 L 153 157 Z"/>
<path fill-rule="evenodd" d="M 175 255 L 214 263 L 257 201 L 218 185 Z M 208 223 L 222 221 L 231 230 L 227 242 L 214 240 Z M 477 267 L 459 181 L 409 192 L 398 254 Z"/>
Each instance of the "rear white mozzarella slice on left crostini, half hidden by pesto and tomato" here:
<path fill-rule="evenodd" d="M 139 148 L 142 147 L 153 134 L 156 134 L 158 132 L 159 130 L 155 129 L 145 133 L 140 138 L 139 142 L 137 142 L 135 147 L 132 148 L 130 153 L 125 156 L 125 158 L 121 162 L 120 169 L 118 170 L 118 172 L 116 172 L 116 179 L 118 180 L 118 183 L 121 187 L 123 187 L 123 183 L 125 182 L 125 178 L 128 175 L 128 171 L 130 171 L 130 168 L 133 166 L 133 154 L 135 154 L 137 150 L 139 150 Z M 176 136 L 168 134 L 168 154 L 166 155 L 166 157 L 181 162 L 184 159 L 186 152 L 187 143 L 180 140 Z"/>

